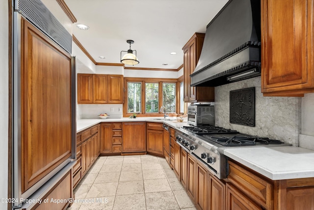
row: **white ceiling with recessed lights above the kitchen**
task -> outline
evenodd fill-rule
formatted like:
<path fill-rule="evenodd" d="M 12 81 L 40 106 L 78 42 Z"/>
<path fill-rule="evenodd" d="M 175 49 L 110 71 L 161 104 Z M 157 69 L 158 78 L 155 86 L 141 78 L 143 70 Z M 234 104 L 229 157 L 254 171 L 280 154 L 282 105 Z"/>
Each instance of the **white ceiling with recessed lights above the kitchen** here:
<path fill-rule="evenodd" d="M 227 1 L 65 0 L 77 23 L 89 26 L 79 30 L 74 23 L 73 34 L 96 62 L 120 63 L 120 52 L 132 39 L 140 62 L 134 67 L 169 69 L 183 64 L 184 44 L 195 32 L 205 33 Z"/>

